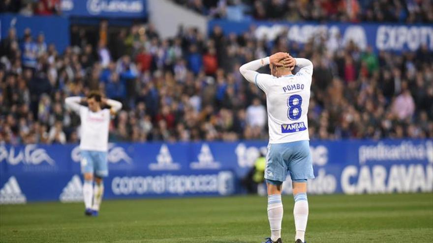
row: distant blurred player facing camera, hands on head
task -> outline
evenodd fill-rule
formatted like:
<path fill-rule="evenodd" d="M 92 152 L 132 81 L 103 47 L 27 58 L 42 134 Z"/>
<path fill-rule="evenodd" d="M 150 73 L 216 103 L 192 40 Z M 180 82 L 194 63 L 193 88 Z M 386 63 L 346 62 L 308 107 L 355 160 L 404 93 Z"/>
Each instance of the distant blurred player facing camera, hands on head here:
<path fill-rule="evenodd" d="M 80 105 L 86 102 L 88 107 Z M 87 98 L 78 96 L 65 99 L 66 106 L 80 115 L 81 119 L 81 172 L 84 175 L 83 196 L 87 216 L 98 216 L 104 193 L 102 178 L 108 176 L 108 130 L 111 115 L 122 108 L 122 103 L 102 98 L 92 91 Z M 110 109 L 102 109 L 108 105 Z M 93 186 L 94 179 L 94 186 Z M 93 200 L 92 200 L 93 199 Z"/>

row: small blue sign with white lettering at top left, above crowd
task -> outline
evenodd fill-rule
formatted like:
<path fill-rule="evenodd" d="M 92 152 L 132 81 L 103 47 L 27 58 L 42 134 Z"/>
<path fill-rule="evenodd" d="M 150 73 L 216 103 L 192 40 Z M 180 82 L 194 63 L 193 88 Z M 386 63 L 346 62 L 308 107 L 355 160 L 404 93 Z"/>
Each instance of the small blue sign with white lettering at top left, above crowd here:
<path fill-rule="evenodd" d="M 144 18 L 146 0 L 62 0 L 62 14 L 74 17 Z"/>

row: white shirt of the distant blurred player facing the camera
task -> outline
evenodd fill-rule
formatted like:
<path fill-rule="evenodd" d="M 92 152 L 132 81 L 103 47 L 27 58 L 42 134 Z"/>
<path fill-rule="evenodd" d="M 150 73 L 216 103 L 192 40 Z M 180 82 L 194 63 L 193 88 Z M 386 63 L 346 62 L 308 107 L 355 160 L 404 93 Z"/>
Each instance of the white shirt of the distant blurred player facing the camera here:
<path fill-rule="evenodd" d="M 80 106 L 80 118 L 80 149 L 107 151 L 110 109 L 92 112 L 88 107 Z"/>

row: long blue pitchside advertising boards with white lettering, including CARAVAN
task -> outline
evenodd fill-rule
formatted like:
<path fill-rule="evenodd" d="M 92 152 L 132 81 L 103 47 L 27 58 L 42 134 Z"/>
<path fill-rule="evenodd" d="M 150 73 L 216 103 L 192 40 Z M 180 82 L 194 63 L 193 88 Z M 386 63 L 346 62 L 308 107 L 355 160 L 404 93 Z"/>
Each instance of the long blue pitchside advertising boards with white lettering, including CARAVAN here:
<path fill-rule="evenodd" d="M 265 141 L 111 143 L 105 198 L 231 195 Z M 311 141 L 309 193 L 433 191 L 433 141 Z M 77 144 L 0 145 L 0 203 L 82 200 Z M 290 179 L 284 193 L 291 193 Z"/>

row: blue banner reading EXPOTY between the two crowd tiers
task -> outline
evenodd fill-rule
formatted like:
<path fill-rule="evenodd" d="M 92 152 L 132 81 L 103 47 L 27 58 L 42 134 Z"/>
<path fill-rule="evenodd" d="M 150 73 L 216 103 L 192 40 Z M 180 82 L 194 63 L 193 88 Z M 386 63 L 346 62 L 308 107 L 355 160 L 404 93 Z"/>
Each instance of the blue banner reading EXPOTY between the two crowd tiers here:
<path fill-rule="evenodd" d="M 401 24 L 347 24 L 310 22 L 267 22 L 267 21 L 228 21 L 213 20 L 209 22 L 209 31 L 220 26 L 224 34 L 250 32 L 257 38 L 274 40 L 284 34 L 290 41 L 305 44 L 309 39 L 317 41 L 321 37 L 341 36 L 336 44 L 354 41 L 364 50 L 371 46 L 374 51 L 417 51 L 422 45 L 433 50 L 433 25 Z M 325 43 L 326 44 L 326 43 Z"/>

